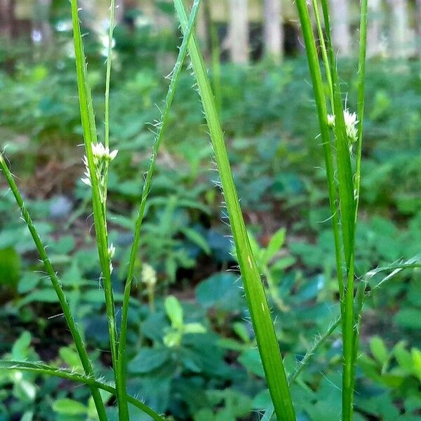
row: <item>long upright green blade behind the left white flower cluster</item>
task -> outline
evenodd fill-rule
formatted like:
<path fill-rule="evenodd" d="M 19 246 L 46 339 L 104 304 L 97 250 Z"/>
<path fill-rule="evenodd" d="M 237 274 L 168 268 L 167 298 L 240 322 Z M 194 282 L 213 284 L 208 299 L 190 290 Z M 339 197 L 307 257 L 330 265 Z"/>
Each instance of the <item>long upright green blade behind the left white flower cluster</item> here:
<path fill-rule="evenodd" d="M 98 255 L 102 270 L 102 281 L 105 293 L 105 306 L 107 309 L 107 323 L 109 330 L 109 344 L 112 355 L 114 376 L 116 380 L 117 401 L 119 403 L 119 419 L 128 420 L 128 407 L 125 401 L 124 386 L 119 378 L 117 366 L 117 335 L 116 316 L 114 309 L 114 297 L 111 283 L 111 260 L 108 253 L 107 222 L 105 218 L 105 206 L 101 200 L 99 180 L 95 172 L 92 146 L 97 143 L 95 126 L 95 114 L 93 112 L 93 101 L 91 88 L 88 82 L 86 58 L 83 51 L 83 41 L 79 24 L 79 9 L 77 0 L 71 0 L 72 24 L 74 33 L 74 54 L 76 62 L 77 85 L 79 91 L 79 106 L 83 128 L 83 139 L 85 142 L 86 159 L 88 161 L 89 173 L 91 175 L 92 196 L 93 196 L 93 220 L 95 235 L 98 245 Z"/>

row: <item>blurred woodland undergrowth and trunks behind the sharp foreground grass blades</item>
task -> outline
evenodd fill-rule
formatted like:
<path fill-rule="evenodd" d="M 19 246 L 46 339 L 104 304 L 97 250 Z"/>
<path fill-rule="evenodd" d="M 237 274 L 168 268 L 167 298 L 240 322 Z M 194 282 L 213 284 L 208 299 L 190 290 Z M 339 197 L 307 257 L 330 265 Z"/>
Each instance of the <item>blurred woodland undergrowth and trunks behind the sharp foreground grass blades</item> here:
<path fill-rule="evenodd" d="M 102 121 L 108 4 L 80 4 Z M 331 4 L 342 91 L 354 110 L 357 2 Z M 358 276 L 421 251 L 420 2 L 369 4 Z M 278 22 L 272 32 L 265 19 L 270 7 L 276 7 L 272 17 Z M 109 235 L 116 246 L 114 286 L 122 293 L 153 122 L 168 86 L 163 76 L 173 65 L 180 32 L 171 2 L 123 1 L 117 11 L 111 144 L 119 154 L 109 175 Z M 338 314 L 323 157 L 295 18 L 288 1 L 203 0 L 197 27 L 289 372 Z M 0 144 L 48 243 L 96 370 L 111 380 L 90 194 L 80 181 L 69 4 L 0 0 L 0 36 Z M 229 270 L 236 261 L 193 83 L 185 69 L 142 228 L 128 389 L 175 420 L 258 420 L 269 395 L 241 280 Z M 78 370 L 29 233 L 3 180 L 0 187 L 0 353 Z M 356 420 L 415 421 L 421 415 L 420 291 L 415 269 L 397 274 L 368 300 Z M 337 332 L 295 382 L 300 421 L 339 419 L 341 346 Z M 0 385 L 0 420 L 95 420 L 84 387 L 5 371 Z M 112 403 L 111 396 L 105 399 Z M 115 417 L 109 408 L 110 420 Z"/>

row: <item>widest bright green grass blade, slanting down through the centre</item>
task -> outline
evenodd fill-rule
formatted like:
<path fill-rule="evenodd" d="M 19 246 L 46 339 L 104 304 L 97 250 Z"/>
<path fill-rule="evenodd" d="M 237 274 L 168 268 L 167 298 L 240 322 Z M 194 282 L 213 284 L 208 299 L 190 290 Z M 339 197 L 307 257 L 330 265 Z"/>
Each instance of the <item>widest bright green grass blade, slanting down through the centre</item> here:
<path fill-rule="evenodd" d="M 187 34 L 188 22 L 185 6 L 182 0 L 175 0 L 174 4 L 178 19 L 180 20 L 182 32 Z M 206 121 L 208 123 L 210 139 L 215 152 L 215 159 L 222 182 L 222 191 L 225 196 L 225 203 L 227 205 L 234 244 L 241 269 L 241 277 L 246 292 L 246 300 L 248 302 L 256 340 L 258 342 L 269 392 L 279 420 L 293 421 L 295 420 L 295 411 L 290 397 L 285 370 L 283 368 L 279 343 L 276 339 L 274 325 L 267 304 L 265 288 L 263 287 L 258 266 L 256 265 L 255 258 L 250 248 L 246 226 L 244 224 L 239 199 L 232 178 L 227 149 L 225 147 L 218 117 L 218 110 L 215 105 L 215 98 L 213 97 L 212 89 L 210 88 L 210 81 L 195 36 L 192 36 L 192 39 L 189 41 L 189 55 L 192 60 L 192 67 L 199 88 L 199 95 L 201 97 Z"/>

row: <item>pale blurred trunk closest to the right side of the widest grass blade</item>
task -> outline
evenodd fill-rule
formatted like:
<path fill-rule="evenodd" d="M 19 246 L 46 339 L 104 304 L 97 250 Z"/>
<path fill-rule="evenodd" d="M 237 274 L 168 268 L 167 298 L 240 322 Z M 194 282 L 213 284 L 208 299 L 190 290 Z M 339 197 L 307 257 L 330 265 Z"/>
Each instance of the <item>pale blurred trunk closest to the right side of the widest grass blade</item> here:
<path fill-rule="evenodd" d="M 234 63 L 248 62 L 247 0 L 229 0 L 229 47 Z"/>

